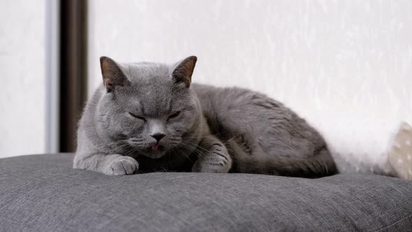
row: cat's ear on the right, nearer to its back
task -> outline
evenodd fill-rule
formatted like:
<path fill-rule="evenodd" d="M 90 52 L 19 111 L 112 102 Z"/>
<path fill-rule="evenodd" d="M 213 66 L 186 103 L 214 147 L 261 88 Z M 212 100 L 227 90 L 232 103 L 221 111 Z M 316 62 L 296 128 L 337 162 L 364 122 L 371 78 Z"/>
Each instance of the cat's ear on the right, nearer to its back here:
<path fill-rule="evenodd" d="M 197 60 L 198 57 L 192 56 L 177 63 L 172 72 L 172 78 L 175 79 L 175 83 L 183 83 L 186 87 L 190 86 Z"/>

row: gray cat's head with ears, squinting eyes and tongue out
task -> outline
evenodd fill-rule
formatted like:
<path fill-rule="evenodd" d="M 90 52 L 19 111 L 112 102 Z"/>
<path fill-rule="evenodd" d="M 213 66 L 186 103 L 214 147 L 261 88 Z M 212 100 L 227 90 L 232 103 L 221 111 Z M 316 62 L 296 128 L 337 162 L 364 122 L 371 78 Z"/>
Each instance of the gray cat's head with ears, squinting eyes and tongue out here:
<path fill-rule="evenodd" d="M 151 158 L 184 146 L 182 137 L 196 129 L 201 114 L 190 89 L 196 60 L 187 57 L 169 66 L 101 57 L 105 88 L 96 115 L 99 133 Z"/>

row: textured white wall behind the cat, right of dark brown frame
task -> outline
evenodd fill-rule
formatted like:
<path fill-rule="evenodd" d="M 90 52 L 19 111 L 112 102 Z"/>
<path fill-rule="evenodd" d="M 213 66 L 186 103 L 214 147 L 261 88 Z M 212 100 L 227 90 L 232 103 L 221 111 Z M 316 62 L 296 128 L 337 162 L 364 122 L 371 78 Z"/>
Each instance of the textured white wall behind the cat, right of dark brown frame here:
<path fill-rule="evenodd" d="M 91 0 L 90 10 L 91 89 L 101 55 L 196 55 L 194 82 L 265 92 L 326 134 L 358 119 L 412 123 L 412 1 Z"/>

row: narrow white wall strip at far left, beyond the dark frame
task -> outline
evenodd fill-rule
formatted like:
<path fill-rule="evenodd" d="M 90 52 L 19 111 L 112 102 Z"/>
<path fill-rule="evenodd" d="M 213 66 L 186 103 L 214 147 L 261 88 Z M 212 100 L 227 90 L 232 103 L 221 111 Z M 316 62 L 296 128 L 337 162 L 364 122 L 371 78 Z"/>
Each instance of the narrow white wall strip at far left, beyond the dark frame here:
<path fill-rule="evenodd" d="M 45 150 L 45 1 L 0 1 L 0 158 Z"/>

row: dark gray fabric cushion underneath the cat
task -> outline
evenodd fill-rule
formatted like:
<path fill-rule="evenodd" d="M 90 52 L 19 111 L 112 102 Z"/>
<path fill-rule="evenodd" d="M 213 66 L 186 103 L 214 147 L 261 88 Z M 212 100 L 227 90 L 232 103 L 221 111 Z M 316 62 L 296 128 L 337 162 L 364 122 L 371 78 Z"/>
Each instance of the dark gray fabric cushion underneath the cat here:
<path fill-rule="evenodd" d="M 0 231 L 410 231 L 412 184 L 378 175 L 108 176 L 73 154 L 0 159 Z"/>

